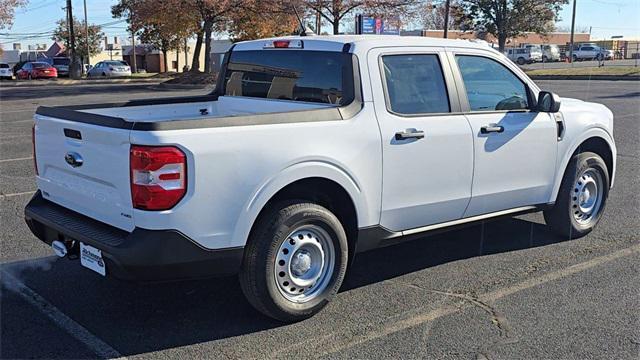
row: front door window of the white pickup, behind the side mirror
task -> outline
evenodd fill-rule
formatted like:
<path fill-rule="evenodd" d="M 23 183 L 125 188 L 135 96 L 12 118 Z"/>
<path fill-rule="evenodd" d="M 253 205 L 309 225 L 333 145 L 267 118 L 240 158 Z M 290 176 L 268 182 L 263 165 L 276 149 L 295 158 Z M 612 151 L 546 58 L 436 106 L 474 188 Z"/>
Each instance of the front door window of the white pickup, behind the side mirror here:
<path fill-rule="evenodd" d="M 507 67 L 482 56 L 456 55 L 471 111 L 529 107 L 527 87 Z"/>

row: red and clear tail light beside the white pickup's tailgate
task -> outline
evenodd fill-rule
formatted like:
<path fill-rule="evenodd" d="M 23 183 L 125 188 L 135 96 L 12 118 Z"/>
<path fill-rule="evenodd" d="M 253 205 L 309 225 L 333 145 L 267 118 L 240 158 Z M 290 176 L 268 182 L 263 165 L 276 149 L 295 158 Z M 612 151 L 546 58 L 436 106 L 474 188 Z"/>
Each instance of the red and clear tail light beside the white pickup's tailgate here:
<path fill-rule="evenodd" d="M 131 200 L 142 210 L 168 210 L 187 192 L 187 160 L 174 146 L 132 145 Z"/>

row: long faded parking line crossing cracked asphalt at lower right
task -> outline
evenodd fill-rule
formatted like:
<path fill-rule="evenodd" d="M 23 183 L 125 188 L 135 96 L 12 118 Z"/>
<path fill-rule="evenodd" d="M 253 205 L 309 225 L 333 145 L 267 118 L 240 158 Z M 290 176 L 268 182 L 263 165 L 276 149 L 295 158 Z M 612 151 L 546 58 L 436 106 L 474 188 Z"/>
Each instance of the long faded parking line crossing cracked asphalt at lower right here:
<path fill-rule="evenodd" d="M 639 252 L 640 252 L 640 244 L 634 245 L 622 250 L 615 251 L 607 255 L 603 255 L 603 256 L 593 258 L 591 260 L 587 260 L 579 264 L 571 265 L 567 268 L 559 269 L 535 278 L 527 279 L 523 282 L 520 282 L 510 287 L 498 289 L 486 294 L 479 295 L 477 299 L 483 303 L 495 302 L 497 300 L 500 300 L 501 298 L 515 294 L 522 290 L 530 289 L 538 285 L 559 280 L 567 276 L 608 263 L 618 258 L 633 255 Z M 318 357 L 335 354 L 340 351 L 352 348 L 354 346 L 370 342 L 372 340 L 384 338 L 384 337 L 393 335 L 397 332 L 414 328 L 416 326 L 420 326 L 425 323 L 437 320 L 439 318 L 457 313 L 471 306 L 472 305 L 443 306 L 443 307 L 428 311 L 426 313 L 420 313 L 420 314 L 405 318 L 403 320 L 394 321 L 390 325 L 383 326 L 378 329 L 374 329 L 365 334 L 358 335 L 352 338 L 347 338 L 344 334 L 334 333 L 334 336 L 332 338 L 325 339 L 324 341 L 322 341 L 323 348 L 319 349 L 320 351 L 322 351 L 322 354 L 319 354 Z"/>

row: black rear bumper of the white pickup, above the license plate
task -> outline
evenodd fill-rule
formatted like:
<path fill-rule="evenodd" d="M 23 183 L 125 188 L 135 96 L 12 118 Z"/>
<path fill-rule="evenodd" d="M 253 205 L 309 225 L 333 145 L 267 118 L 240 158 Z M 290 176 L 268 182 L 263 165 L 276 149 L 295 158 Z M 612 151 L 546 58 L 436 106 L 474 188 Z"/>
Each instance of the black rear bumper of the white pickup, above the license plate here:
<path fill-rule="evenodd" d="M 81 241 L 102 251 L 107 275 L 165 281 L 236 274 L 244 248 L 207 250 L 176 230 L 135 228 L 129 233 L 54 204 L 38 191 L 25 221 L 40 240 Z M 76 244 L 77 246 L 77 244 Z"/>

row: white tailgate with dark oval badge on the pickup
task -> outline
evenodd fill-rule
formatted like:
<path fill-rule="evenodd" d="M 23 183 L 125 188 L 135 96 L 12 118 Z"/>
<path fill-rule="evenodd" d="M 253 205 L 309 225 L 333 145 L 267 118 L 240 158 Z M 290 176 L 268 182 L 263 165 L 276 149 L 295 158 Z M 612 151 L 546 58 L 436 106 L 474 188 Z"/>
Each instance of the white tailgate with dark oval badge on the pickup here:
<path fill-rule="evenodd" d="M 37 182 L 43 196 L 132 231 L 129 132 L 36 115 Z"/>

